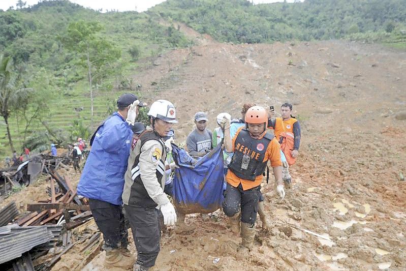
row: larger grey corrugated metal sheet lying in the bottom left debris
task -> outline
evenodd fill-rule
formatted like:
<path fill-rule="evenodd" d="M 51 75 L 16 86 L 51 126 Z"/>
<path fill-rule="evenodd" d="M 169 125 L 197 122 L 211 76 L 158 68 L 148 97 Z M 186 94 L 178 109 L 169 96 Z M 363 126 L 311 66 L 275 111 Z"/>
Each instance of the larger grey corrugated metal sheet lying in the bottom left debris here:
<path fill-rule="evenodd" d="M 24 252 L 54 238 L 46 226 L 0 227 L 0 264 L 21 257 Z M 4 233 L 9 231 L 9 233 Z"/>

